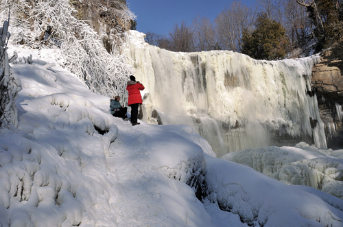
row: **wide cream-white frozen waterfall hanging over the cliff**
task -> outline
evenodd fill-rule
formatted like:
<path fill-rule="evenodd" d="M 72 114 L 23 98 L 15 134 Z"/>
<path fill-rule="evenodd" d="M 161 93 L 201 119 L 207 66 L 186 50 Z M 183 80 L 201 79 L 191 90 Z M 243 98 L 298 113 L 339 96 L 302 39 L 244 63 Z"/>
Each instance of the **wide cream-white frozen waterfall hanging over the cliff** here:
<path fill-rule="evenodd" d="M 174 53 L 143 36 L 130 31 L 126 54 L 145 85 L 144 121 L 188 124 L 217 157 L 302 141 L 327 147 L 310 85 L 318 56 L 270 62 L 232 51 Z"/>

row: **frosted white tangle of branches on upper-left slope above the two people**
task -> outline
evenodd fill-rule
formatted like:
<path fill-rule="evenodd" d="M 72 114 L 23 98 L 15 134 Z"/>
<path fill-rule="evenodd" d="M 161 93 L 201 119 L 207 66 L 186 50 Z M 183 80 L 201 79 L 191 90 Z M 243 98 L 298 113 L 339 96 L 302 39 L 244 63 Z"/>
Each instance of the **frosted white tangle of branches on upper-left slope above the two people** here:
<path fill-rule="evenodd" d="M 115 2 L 109 5 L 120 10 L 123 4 Z M 93 28 L 76 17 L 78 12 L 69 0 L 4 0 L 0 4 L 1 12 L 12 5 L 16 26 L 21 27 L 16 42 L 32 48 L 58 46 L 64 57 L 62 66 L 84 79 L 91 90 L 107 96 L 126 96 L 126 80 L 132 69 L 125 56 L 119 55 L 120 46 L 113 45 L 108 53 Z M 126 14 L 121 16 L 123 20 L 134 18 L 127 8 L 121 12 Z"/>

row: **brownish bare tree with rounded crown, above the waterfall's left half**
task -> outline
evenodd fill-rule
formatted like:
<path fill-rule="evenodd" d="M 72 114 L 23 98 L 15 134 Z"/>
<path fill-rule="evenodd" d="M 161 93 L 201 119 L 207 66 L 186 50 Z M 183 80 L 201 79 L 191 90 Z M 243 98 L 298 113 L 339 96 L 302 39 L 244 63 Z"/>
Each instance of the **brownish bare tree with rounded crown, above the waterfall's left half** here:
<path fill-rule="evenodd" d="M 169 31 L 171 51 L 191 52 L 194 51 L 194 34 L 191 27 L 182 21 L 180 27 L 175 23 L 173 30 Z"/>

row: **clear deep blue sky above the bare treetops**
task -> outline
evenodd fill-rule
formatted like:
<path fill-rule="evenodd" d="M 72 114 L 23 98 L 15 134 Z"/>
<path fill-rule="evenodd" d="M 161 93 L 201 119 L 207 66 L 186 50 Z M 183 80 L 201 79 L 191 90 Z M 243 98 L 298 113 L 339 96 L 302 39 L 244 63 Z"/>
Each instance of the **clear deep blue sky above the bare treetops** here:
<path fill-rule="evenodd" d="M 196 16 L 213 20 L 217 14 L 229 6 L 233 0 L 126 0 L 129 8 L 137 16 L 137 31 L 168 34 L 175 23 L 182 20 L 191 25 Z M 241 1 L 245 5 L 255 5 L 255 0 Z"/>

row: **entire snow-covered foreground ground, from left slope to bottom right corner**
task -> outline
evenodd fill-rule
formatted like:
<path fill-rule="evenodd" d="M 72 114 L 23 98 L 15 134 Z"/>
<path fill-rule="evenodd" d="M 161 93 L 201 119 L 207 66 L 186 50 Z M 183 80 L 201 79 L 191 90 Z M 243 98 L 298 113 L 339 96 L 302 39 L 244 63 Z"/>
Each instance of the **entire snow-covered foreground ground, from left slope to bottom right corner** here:
<path fill-rule="evenodd" d="M 0 131 L 1 226 L 343 226 L 339 198 L 217 159 L 189 126 L 131 126 L 113 97 L 45 68 L 58 53 L 14 50 L 33 64 L 12 64 L 23 90 L 18 129 Z"/>

